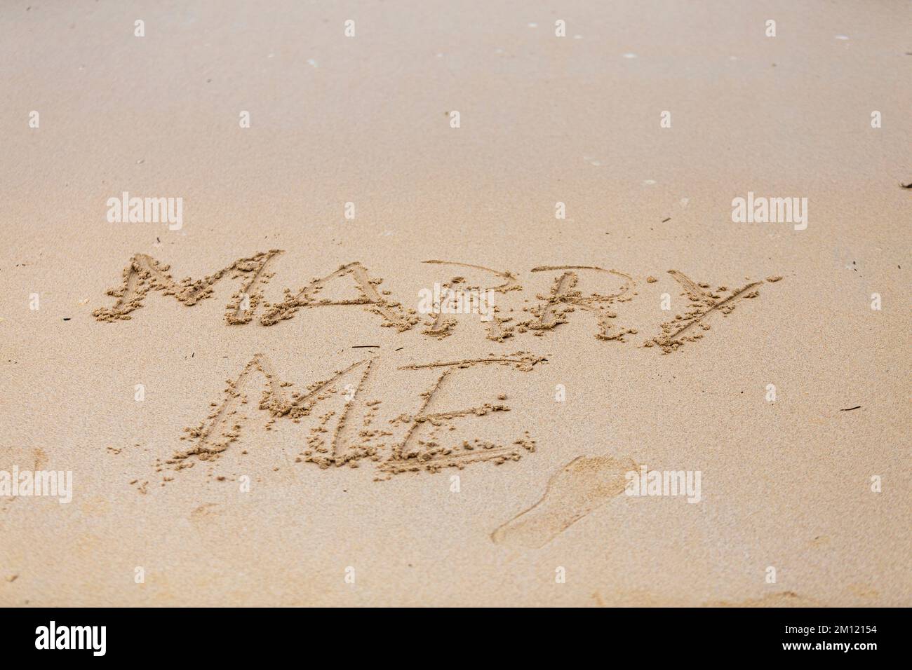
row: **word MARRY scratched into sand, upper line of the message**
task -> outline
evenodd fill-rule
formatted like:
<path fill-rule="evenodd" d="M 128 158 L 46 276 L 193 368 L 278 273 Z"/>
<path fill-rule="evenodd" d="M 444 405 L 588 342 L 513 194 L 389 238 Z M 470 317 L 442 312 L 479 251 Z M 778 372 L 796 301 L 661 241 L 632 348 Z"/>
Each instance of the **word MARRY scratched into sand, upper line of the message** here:
<path fill-rule="evenodd" d="M 596 338 L 603 341 L 627 342 L 631 335 L 638 335 L 638 328 L 630 325 L 617 325 L 620 304 L 629 303 L 637 296 L 637 281 L 633 275 L 619 270 L 606 270 L 593 265 L 541 265 L 532 268 L 532 273 L 551 273 L 553 282 L 546 294 L 536 294 L 538 301 L 534 304 L 523 299 L 523 304 L 506 306 L 492 304 L 489 295 L 522 292 L 518 275 L 509 270 L 492 270 L 471 263 L 453 261 L 425 261 L 464 271 L 490 273 L 496 283 L 491 286 L 472 286 L 463 276 L 457 275 L 434 289 L 422 287 L 418 292 L 418 307 L 427 303 L 428 296 L 436 296 L 437 304 L 420 310 L 408 307 L 395 300 L 389 291 L 379 288 L 382 279 L 371 276 L 364 263 L 358 261 L 341 265 L 326 276 L 318 277 L 307 283 L 298 291 L 286 288 L 278 302 L 267 302 L 264 299 L 264 288 L 273 278 L 271 272 L 282 250 L 255 253 L 241 258 L 202 279 L 190 277 L 175 281 L 169 272 L 170 267 L 144 253 L 137 253 L 130 258 L 130 263 L 123 270 L 123 280 L 116 288 L 109 289 L 108 294 L 116 298 L 110 307 L 102 307 L 92 314 L 98 321 L 116 322 L 129 320 L 132 313 L 143 306 L 150 291 L 175 297 L 181 304 L 193 305 L 212 296 L 213 286 L 226 277 L 240 281 L 240 286 L 233 293 L 225 307 L 224 318 L 229 325 L 246 325 L 254 321 L 259 314 L 258 323 L 264 326 L 276 325 L 291 319 L 301 309 L 326 306 L 360 306 L 368 313 L 380 319 L 380 325 L 404 332 L 412 329 L 421 321 L 421 313 L 426 315 L 421 333 L 442 338 L 451 335 L 458 320 L 453 314 L 467 311 L 463 304 L 454 308 L 452 304 L 440 304 L 441 288 L 447 296 L 446 301 L 462 300 L 464 295 L 483 294 L 479 304 L 485 304 L 480 322 L 484 324 L 486 337 L 494 342 L 503 342 L 517 335 L 545 335 L 557 327 L 569 323 L 570 314 L 580 311 L 596 317 Z M 579 288 L 580 276 L 586 274 L 602 283 L 612 283 L 609 293 L 584 294 Z M 686 274 L 669 270 L 668 274 L 683 289 L 687 306 L 667 319 L 659 326 L 658 334 L 645 335 L 641 345 L 657 347 L 663 353 L 670 353 L 686 342 L 693 342 L 709 330 L 707 323 L 710 314 L 729 314 L 743 298 L 757 296 L 757 288 L 762 282 L 749 282 L 739 288 L 728 288 L 724 285 L 710 289 L 709 283 L 698 283 Z M 779 277 L 767 281 L 777 281 Z M 656 283 L 652 276 L 647 283 Z M 348 283 L 355 293 L 343 298 L 326 298 L 322 294 L 337 283 Z M 504 298 L 505 300 L 505 298 Z M 471 304 L 467 300 L 466 304 Z M 659 309 L 671 311 L 670 295 L 662 294 L 658 303 Z"/>

